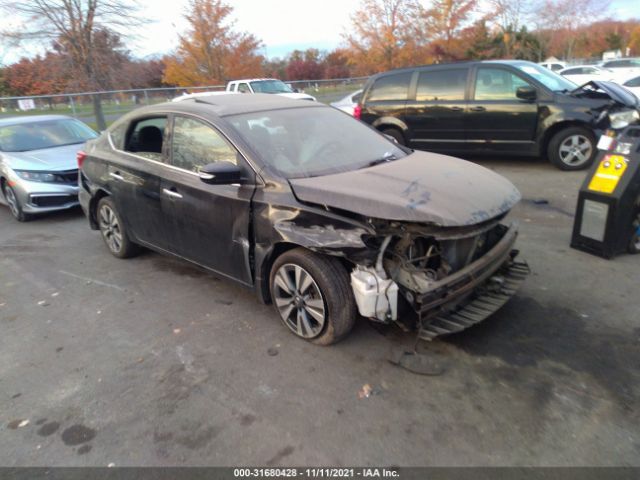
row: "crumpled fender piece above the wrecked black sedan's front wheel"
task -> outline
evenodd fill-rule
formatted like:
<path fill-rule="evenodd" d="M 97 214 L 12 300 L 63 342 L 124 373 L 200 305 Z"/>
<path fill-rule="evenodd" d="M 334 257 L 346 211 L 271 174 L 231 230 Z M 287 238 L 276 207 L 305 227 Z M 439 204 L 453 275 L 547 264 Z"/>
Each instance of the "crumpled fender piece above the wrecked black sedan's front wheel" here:
<path fill-rule="evenodd" d="M 367 248 L 363 235 L 370 234 L 364 228 L 341 229 L 333 225 L 309 227 L 294 222 L 277 222 L 276 231 L 288 242 L 311 249 Z"/>

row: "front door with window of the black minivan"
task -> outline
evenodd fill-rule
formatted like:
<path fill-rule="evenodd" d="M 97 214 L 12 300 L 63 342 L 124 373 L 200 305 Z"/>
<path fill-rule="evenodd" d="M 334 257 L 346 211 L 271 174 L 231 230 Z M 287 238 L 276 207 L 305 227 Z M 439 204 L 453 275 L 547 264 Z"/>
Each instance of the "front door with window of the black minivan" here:
<path fill-rule="evenodd" d="M 535 151 L 538 103 L 516 97 L 519 87 L 536 88 L 510 69 L 476 68 L 465 116 L 467 141 L 474 148 L 514 153 Z"/>

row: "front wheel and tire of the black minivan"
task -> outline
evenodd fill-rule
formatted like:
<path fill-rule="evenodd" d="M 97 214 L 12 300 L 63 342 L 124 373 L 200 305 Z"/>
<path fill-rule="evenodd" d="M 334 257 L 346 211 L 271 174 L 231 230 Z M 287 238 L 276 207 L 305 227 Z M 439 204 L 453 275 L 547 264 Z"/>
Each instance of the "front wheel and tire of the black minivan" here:
<path fill-rule="evenodd" d="M 549 142 L 547 156 L 560 170 L 582 170 L 593 163 L 597 153 L 593 133 L 584 127 L 560 130 Z"/>

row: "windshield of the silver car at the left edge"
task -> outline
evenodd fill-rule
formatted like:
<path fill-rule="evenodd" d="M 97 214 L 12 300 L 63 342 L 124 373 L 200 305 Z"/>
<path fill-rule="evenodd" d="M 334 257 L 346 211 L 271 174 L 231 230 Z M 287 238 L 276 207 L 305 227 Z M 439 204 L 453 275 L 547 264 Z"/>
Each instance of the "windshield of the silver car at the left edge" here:
<path fill-rule="evenodd" d="M 0 150 L 26 152 L 61 147 L 84 143 L 97 136 L 87 125 L 71 118 L 34 120 L 0 127 Z"/>

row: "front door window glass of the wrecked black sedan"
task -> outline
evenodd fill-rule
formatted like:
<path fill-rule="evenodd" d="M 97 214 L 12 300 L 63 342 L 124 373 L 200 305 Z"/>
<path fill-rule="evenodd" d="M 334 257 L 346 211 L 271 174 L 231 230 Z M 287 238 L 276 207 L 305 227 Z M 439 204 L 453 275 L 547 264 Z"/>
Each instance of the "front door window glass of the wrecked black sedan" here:
<path fill-rule="evenodd" d="M 191 172 L 214 162 L 238 163 L 236 150 L 216 130 L 188 117 L 175 117 L 171 150 L 171 163 Z"/>

